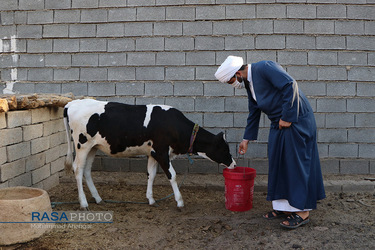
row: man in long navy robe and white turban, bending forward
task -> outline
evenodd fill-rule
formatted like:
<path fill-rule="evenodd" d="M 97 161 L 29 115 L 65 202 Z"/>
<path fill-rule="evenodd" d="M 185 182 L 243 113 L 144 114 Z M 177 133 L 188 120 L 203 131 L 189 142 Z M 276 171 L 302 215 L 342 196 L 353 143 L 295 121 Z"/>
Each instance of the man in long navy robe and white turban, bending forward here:
<path fill-rule="evenodd" d="M 325 198 L 316 123 L 312 108 L 297 82 L 277 63 L 243 64 L 229 56 L 215 77 L 235 88 L 246 88 L 249 116 L 239 153 L 257 140 L 261 112 L 271 121 L 268 138 L 268 193 L 273 211 L 266 219 L 286 217 L 281 226 L 296 228 L 309 222 L 317 200 Z"/>

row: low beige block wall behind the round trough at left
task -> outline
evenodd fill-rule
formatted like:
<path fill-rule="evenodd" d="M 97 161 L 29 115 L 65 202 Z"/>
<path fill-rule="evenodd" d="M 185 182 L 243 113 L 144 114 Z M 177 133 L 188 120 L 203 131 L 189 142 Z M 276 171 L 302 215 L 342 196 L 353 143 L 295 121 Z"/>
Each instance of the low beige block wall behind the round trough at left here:
<path fill-rule="evenodd" d="M 62 108 L 0 113 L 0 188 L 50 189 L 59 184 L 66 155 Z"/>

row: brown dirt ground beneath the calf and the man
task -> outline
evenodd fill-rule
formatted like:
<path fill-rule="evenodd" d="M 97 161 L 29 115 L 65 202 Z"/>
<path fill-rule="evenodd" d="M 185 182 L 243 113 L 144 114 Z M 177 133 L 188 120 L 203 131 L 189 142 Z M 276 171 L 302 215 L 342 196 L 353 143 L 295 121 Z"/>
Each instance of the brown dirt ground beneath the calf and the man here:
<path fill-rule="evenodd" d="M 94 177 L 103 199 L 147 202 L 145 174 L 142 182 L 132 180 L 134 175 L 100 175 L 105 178 Z M 157 178 L 166 179 L 163 175 Z M 200 178 L 209 183 L 204 175 Z M 251 210 L 232 212 L 225 209 L 224 185 L 183 184 L 180 191 L 185 202 L 182 210 L 177 209 L 173 197 L 159 201 L 158 206 L 90 203 L 91 211 L 113 211 L 114 222 L 54 228 L 39 239 L 5 249 L 375 249 L 373 193 L 327 193 L 310 214 L 310 223 L 288 230 L 279 225 L 282 219 L 262 218 L 271 209 L 264 192 L 254 193 Z M 87 189 L 85 192 L 90 197 Z M 171 192 L 168 182 L 154 186 L 155 199 Z M 78 199 L 73 180 L 63 181 L 49 194 L 51 201 Z M 78 204 L 54 208 L 78 209 Z"/>

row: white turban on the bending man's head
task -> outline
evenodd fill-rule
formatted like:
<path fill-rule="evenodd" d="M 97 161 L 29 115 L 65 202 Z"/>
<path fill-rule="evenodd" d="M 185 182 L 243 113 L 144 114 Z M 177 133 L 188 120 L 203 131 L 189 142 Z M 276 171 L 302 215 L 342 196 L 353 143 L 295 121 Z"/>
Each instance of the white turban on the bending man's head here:
<path fill-rule="evenodd" d="M 243 59 L 238 56 L 228 56 L 215 73 L 220 82 L 228 82 L 234 74 L 242 67 Z"/>

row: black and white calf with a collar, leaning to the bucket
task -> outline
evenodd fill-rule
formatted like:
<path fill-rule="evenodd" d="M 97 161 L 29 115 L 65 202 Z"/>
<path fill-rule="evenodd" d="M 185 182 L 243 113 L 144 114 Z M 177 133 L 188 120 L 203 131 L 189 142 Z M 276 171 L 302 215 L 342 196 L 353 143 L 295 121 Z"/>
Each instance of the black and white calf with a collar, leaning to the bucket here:
<path fill-rule="evenodd" d="M 214 135 L 199 128 L 195 140 L 190 143 L 194 123 L 170 106 L 75 100 L 65 106 L 64 123 L 68 139 L 65 166 L 73 167 L 82 209 L 88 208 L 82 187 L 83 175 L 95 201 L 102 201 L 91 178 L 97 149 L 114 157 L 148 156 L 146 196 L 150 205 L 155 203 L 152 185 L 157 163 L 171 182 L 178 207 L 183 207 L 184 202 L 171 164 L 175 155 L 186 154 L 190 148 L 192 153 L 227 167 L 234 168 L 236 164 L 223 133 Z M 76 151 L 74 162 L 72 137 Z"/>

